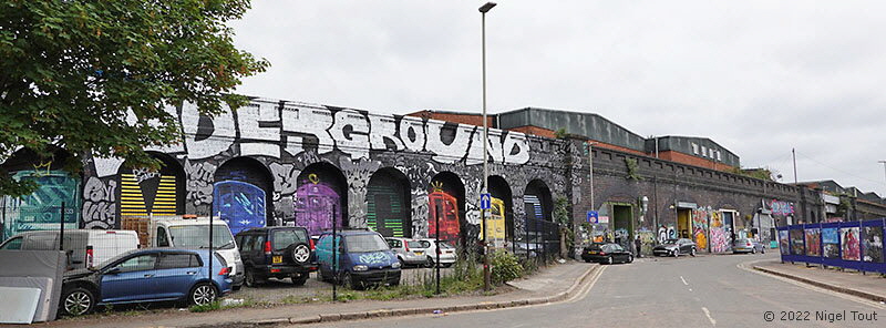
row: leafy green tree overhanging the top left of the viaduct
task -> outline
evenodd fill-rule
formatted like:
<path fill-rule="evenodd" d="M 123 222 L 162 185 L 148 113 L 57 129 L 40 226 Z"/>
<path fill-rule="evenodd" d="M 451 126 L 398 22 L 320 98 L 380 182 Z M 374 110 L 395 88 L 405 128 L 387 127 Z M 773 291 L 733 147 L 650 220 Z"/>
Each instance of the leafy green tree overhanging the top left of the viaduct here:
<path fill-rule="evenodd" d="M 0 0 L 0 162 L 53 147 L 76 172 L 90 153 L 157 168 L 144 152 L 179 142 L 165 111 L 183 102 L 215 114 L 247 101 L 230 92 L 268 62 L 236 49 L 225 22 L 248 0 Z M 0 168 L 0 194 L 35 186 Z"/>

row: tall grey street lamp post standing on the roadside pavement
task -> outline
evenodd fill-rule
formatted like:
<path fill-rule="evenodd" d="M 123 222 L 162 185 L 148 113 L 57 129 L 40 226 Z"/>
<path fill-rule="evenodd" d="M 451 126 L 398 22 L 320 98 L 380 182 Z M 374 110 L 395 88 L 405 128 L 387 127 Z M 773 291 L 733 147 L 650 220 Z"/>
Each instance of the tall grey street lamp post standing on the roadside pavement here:
<path fill-rule="evenodd" d="M 481 24 L 482 24 L 482 48 L 483 48 L 483 194 L 487 194 L 490 188 L 490 166 L 488 166 L 488 151 L 486 147 L 490 143 L 490 124 L 486 120 L 486 12 L 488 12 L 495 2 L 486 2 L 480 7 Z M 483 234 L 483 289 L 490 290 L 492 273 L 490 271 L 490 245 L 486 236 L 486 211 L 483 206 L 480 208 L 480 216 L 483 225 L 481 234 Z"/>

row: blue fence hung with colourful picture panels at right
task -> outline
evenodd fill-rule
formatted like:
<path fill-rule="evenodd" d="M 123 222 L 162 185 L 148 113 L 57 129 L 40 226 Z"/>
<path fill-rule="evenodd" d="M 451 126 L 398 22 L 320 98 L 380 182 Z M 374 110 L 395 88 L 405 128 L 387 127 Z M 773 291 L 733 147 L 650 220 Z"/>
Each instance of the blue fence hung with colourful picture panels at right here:
<path fill-rule="evenodd" d="M 886 219 L 816 223 L 777 228 L 782 262 L 886 274 Z"/>

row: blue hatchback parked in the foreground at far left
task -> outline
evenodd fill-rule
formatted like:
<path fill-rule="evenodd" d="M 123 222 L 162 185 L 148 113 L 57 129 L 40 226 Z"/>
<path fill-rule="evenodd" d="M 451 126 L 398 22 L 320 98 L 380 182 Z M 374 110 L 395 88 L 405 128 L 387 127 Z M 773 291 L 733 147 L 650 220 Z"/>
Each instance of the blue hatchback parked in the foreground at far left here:
<path fill-rule="evenodd" d="M 152 248 L 126 252 L 91 269 L 69 271 L 62 280 L 59 310 L 89 314 L 95 306 L 183 301 L 207 305 L 230 293 L 230 268 L 208 249 Z"/>

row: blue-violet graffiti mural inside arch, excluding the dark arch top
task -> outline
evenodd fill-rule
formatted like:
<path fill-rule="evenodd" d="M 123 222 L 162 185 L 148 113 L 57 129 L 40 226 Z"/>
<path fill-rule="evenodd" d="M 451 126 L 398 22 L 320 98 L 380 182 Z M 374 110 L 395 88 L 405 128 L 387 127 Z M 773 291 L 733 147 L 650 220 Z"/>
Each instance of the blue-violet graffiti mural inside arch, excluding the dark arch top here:
<path fill-rule="evenodd" d="M 265 227 L 265 191 L 239 181 L 223 181 L 214 185 L 213 214 L 230 227 L 231 234 Z"/>

